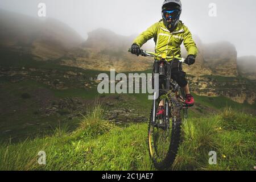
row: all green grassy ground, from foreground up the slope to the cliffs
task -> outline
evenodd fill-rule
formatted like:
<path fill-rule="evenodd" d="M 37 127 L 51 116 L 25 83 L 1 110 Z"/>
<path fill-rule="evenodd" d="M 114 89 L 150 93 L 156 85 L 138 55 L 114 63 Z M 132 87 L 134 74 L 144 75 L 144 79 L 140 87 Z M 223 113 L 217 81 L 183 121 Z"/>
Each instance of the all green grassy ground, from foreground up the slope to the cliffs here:
<path fill-rule="evenodd" d="M 12 61 L 9 56 L 13 56 Z M 1 57 L 1 67 L 57 69 L 82 72 L 87 77 L 101 73 L 57 65 L 54 61 L 34 61 L 29 55 L 12 55 L 10 52 L 7 57 Z M 218 77 L 219 81 L 225 79 L 230 78 Z M 40 102 L 45 99 L 78 97 L 94 100 L 98 96 L 112 102 L 112 94 L 99 95 L 96 88 L 55 90 L 31 80 L 10 82 L 6 77 L 1 77 L 0 81 L 3 109 L 0 113 L 0 140 L 6 141 L 10 136 L 20 139 L 19 142 L 11 140 L 0 145 L 0 170 L 154 170 L 147 154 L 146 122 L 130 121 L 114 126 L 95 115 L 82 118 L 81 122 L 81 117 L 69 119 L 63 114 L 44 117 L 39 112 Z M 44 94 L 36 100 L 38 90 Z M 22 98 L 24 94 L 30 97 Z M 147 99 L 148 94 L 114 96 L 120 99 L 117 105 L 110 106 L 112 109 L 133 108 L 148 117 L 152 104 Z M 189 110 L 187 123 L 183 123 L 184 142 L 172 169 L 253 170 L 256 104 L 238 104 L 226 97 L 194 96 L 196 105 Z M 226 109 L 229 107 L 234 110 Z M 28 136 L 30 138 L 26 139 Z M 40 150 L 46 151 L 46 166 L 37 163 Z M 212 150 L 218 155 L 216 166 L 208 164 L 208 153 Z"/>

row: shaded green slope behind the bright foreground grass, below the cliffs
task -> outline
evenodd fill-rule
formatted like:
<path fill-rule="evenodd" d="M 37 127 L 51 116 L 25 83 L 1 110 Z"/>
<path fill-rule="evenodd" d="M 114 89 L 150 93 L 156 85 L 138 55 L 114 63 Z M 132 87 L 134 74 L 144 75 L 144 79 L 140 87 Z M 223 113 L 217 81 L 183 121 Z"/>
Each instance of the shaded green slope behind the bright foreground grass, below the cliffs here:
<path fill-rule="evenodd" d="M 27 136 L 40 133 L 52 133 L 52 129 L 59 126 L 59 123 L 69 123 L 75 127 L 77 118 L 71 121 L 65 118 L 64 114 L 42 116 L 40 114 L 41 102 L 44 100 L 55 100 L 61 98 L 81 98 L 83 100 L 94 100 L 95 97 L 109 98 L 113 94 L 100 95 L 96 88 L 55 90 L 39 82 L 24 80 L 20 82 L 3 81 L 0 84 L 1 107 L 4 110 L 0 115 L 0 137 L 1 140 L 8 140 L 9 137 L 24 139 Z M 38 94 L 38 90 L 41 94 Z M 22 94 L 28 93 L 30 98 L 22 98 Z M 42 94 L 43 93 L 43 94 Z M 117 94 L 114 94 L 117 96 Z M 140 115 L 148 117 L 152 101 L 148 100 L 148 94 L 122 94 L 122 99 L 118 101 L 113 109 L 118 107 L 138 110 Z M 205 117 L 209 113 L 218 113 L 226 106 L 240 111 L 250 111 L 255 113 L 255 105 L 238 104 L 226 97 L 204 97 L 194 94 L 196 105 L 189 109 L 189 117 Z M 39 97 L 36 99 L 36 97 Z M 112 100 L 110 100 L 112 102 Z M 131 121 L 133 122 L 133 121 Z M 11 130 L 11 131 L 10 131 Z M 5 132 L 7 131 L 7 132 Z"/>

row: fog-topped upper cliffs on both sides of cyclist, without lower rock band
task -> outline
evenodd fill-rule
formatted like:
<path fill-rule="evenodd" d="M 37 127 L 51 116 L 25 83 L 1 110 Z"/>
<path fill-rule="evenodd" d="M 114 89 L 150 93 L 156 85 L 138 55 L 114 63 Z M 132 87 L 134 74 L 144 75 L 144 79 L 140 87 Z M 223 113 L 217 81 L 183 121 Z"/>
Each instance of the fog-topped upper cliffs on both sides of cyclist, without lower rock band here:
<path fill-rule="evenodd" d="M 30 53 L 35 60 L 61 59 L 61 64 L 118 72 L 143 71 L 152 67 L 152 59 L 137 57 L 127 52 L 136 35 L 121 36 L 104 28 L 88 33 L 84 41 L 72 28 L 53 19 L 41 20 L 26 15 L 0 10 L 0 48 L 11 48 Z M 185 71 L 193 76 L 237 76 L 237 51 L 228 43 L 204 44 L 194 36 L 199 47 L 195 65 Z M 153 50 L 146 44 L 144 49 Z M 185 51 L 184 57 L 185 57 Z M 240 73 L 244 74 L 241 66 Z M 253 78 L 250 72 L 249 78 Z M 248 75 L 248 74 L 247 74 Z"/>

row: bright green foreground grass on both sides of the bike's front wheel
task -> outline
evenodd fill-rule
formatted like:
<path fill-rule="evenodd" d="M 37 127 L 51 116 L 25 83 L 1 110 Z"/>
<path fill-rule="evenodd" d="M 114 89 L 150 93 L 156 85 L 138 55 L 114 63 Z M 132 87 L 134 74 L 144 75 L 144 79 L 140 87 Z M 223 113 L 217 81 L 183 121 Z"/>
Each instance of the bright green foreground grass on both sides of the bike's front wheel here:
<path fill-rule="evenodd" d="M 173 170 L 253 170 L 256 118 L 228 107 L 217 115 L 183 123 Z M 96 104 L 72 133 L 63 126 L 51 136 L 3 143 L 0 170 L 155 170 L 147 151 L 147 123 L 123 128 L 104 120 Z M 37 161 L 46 152 L 46 165 Z M 217 165 L 209 165 L 216 151 Z"/>

